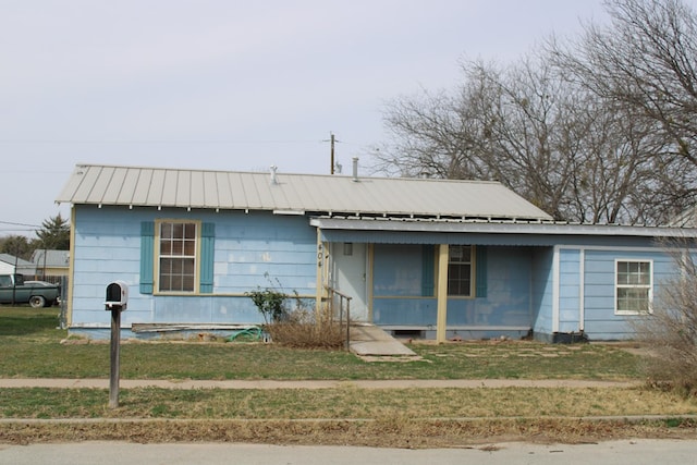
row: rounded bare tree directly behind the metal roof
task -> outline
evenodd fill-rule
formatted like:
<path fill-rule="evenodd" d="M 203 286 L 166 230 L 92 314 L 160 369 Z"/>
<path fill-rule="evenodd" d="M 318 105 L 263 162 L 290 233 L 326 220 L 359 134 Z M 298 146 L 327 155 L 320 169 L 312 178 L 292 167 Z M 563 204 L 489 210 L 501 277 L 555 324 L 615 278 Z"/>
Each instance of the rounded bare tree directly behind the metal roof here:
<path fill-rule="evenodd" d="M 641 120 L 565 77 L 547 57 L 508 68 L 463 64 L 456 93 L 424 93 L 388 107 L 395 135 L 383 171 L 498 180 L 555 219 L 657 223 L 660 193 L 681 192 L 667 174 L 662 139 Z M 667 184 L 671 181 L 670 185 Z M 651 195 L 643 195 L 651 192 Z"/>

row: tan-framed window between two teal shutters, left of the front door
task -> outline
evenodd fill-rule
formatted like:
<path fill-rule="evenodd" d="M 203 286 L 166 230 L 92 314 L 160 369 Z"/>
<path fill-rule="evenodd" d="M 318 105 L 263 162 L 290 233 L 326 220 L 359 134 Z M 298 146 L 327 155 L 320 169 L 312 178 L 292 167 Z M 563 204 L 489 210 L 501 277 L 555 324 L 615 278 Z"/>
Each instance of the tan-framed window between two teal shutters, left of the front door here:
<path fill-rule="evenodd" d="M 194 292 L 196 285 L 197 224 L 161 222 L 159 224 L 160 292 Z"/>

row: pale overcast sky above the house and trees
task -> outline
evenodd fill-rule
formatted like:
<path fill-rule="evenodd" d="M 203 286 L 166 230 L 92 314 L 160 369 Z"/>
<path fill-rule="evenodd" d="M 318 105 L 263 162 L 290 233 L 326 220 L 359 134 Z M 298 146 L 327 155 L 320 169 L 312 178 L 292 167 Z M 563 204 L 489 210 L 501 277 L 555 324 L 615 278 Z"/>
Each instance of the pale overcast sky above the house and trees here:
<path fill-rule="evenodd" d="M 68 217 L 77 163 L 329 173 L 334 133 L 347 172 L 386 101 L 590 19 L 601 0 L 0 0 L 0 235 Z"/>

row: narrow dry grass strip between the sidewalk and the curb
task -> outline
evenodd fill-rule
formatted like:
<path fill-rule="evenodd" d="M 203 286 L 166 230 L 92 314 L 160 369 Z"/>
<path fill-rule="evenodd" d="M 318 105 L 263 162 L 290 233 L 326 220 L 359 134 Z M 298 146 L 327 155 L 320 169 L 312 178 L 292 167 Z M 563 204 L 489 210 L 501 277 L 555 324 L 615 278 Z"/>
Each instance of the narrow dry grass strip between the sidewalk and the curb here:
<path fill-rule="evenodd" d="M 379 419 L 697 414 L 697 399 L 643 388 L 121 390 L 3 389 L 3 418 Z M 597 400 L 601 397 L 602 403 Z M 668 421 L 668 426 L 672 423 Z"/>

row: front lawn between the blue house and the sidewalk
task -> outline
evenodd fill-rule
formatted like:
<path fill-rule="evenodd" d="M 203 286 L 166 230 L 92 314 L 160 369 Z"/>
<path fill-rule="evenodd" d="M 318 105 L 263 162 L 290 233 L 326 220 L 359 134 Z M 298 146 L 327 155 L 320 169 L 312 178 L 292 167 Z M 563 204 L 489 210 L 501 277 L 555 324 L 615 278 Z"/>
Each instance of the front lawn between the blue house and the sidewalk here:
<path fill-rule="evenodd" d="M 58 309 L 0 307 L 0 377 L 108 378 L 109 344 L 62 341 Z M 343 351 L 265 343 L 122 341 L 124 379 L 596 379 L 640 377 L 639 357 L 606 344 L 480 341 L 409 345 L 417 362 L 365 362 Z"/>

